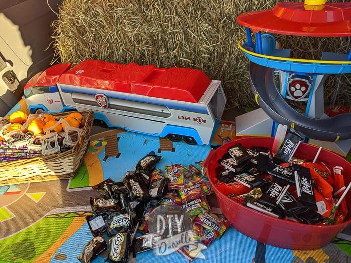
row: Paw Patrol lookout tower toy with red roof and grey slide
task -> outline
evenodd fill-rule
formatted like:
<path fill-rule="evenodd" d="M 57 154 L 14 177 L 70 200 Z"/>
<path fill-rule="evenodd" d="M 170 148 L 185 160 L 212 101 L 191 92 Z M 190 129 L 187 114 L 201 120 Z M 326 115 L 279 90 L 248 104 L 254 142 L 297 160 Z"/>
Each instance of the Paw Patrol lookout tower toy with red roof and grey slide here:
<path fill-rule="evenodd" d="M 351 73 L 351 52 L 323 52 L 320 60 L 290 58 L 291 50 L 279 49 L 270 33 L 350 37 L 351 3 L 281 2 L 270 10 L 239 15 L 237 21 L 246 30 L 239 48 L 250 60 L 250 85 L 261 106 L 236 118 L 237 135 L 273 136 L 279 123 L 301 131 L 312 144 L 346 155 L 351 148 L 351 113 L 332 118 L 324 114 L 323 84 L 327 74 Z M 279 76 L 278 85 L 274 75 Z M 305 113 L 286 100 L 305 101 Z"/>

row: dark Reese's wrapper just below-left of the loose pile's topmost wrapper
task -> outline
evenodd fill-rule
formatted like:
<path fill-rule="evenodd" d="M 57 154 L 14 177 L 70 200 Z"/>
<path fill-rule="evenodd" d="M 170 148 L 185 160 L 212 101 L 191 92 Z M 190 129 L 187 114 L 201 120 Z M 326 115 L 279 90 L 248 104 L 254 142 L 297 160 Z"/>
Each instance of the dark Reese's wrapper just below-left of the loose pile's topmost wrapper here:
<path fill-rule="evenodd" d="M 149 197 L 148 185 L 145 183 L 140 173 L 127 174 L 123 183 L 131 193 L 133 200 L 146 199 Z"/>

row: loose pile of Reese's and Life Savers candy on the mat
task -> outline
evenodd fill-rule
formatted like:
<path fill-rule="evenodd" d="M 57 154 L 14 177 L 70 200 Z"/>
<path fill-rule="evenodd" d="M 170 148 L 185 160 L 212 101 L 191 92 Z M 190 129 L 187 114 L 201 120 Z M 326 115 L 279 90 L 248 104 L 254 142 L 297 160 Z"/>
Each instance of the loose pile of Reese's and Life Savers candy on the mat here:
<path fill-rule="evenodd" d="M 90 199 L 93 214 L 86 220 L 94 239 L 78 257 L 81 262 L 90 262 L 106 249 L 110 262 L 126 262 L 131 252 L 135 256 L 152 249 L 157 233 L 148 222 L 158 207 L 181 207 L 189 215 L 190 225 L 193 221 L 196 240 L 207 246 L 229 227 L 227 220 L 207 212 L 206 195 L 212 193 L 212 188 L 195 166 L 166 166 L 164 176 L 160 169 L 155 170 L 160 159 L 161 156 L 148 154 L 134 172 L 126 173 L 123 182 L 107 179 L 93 186 L 102 197 Z M 145 235 L 134 238 L 137 230 Z M 200 251 L 197 245 L 189 245 L 177 252 L 192 260 Z"/>

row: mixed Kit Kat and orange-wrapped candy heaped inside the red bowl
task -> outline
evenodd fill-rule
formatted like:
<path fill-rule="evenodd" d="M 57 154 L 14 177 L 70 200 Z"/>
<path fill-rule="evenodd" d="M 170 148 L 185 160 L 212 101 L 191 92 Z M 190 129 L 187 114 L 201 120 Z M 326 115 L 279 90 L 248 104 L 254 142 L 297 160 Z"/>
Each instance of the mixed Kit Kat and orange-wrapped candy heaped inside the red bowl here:
<path fill-rule="evenodd" d="M 291 128 L 274 157 L 263 147 L 247 149 L 240 143 L 230 147 L 219 161 L 215 187 L 276 218 L 318 225 L 344 222 L 346 201 L 336 205 L 346 189 L 343 168 L 293 158 L 303 139 Z"/>

